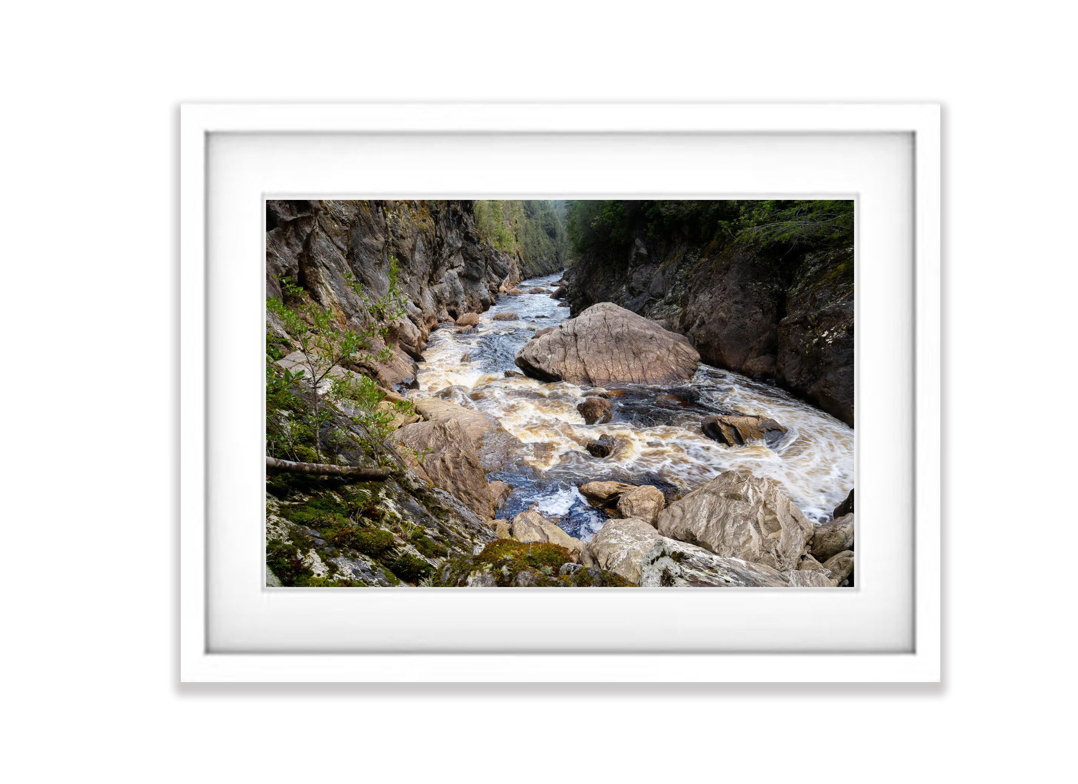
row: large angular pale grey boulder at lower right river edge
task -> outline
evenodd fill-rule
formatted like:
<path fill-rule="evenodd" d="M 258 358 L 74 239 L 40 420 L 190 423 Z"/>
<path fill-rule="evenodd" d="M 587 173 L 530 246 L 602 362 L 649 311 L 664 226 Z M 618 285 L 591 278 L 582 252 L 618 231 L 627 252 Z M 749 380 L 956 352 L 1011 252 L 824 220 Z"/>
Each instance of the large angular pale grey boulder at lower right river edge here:
<path fill-rule="evenodd" d="M 786 572 L 798 568 L 814 527 L 774 481 L 730 471 L 664 509 L 659 533 Z"/>

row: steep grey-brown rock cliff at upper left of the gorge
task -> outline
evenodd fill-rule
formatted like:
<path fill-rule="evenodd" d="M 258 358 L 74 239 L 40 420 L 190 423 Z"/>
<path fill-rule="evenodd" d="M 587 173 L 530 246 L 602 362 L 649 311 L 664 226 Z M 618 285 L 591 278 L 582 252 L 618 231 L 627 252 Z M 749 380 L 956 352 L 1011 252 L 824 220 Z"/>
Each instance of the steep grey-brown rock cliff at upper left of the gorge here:
<path fill-rule="evenodd" d="M 522 276 L 517 260 L 479 233 L 468 201 L 271 201 L 266 203 L 266 294 L 280 280 L 303 286 L 342 322 L 360 327 L 364 310 L 348 276 L 372 297 L 389 286 L 390 259 L 407 294 L 406 319 L 389 335 L 393 358 L 364 368 L 397 386 L 415 375 L 439 322 L 494 304 Z M 273 320 L 271 318 L 271 320 Z"/>

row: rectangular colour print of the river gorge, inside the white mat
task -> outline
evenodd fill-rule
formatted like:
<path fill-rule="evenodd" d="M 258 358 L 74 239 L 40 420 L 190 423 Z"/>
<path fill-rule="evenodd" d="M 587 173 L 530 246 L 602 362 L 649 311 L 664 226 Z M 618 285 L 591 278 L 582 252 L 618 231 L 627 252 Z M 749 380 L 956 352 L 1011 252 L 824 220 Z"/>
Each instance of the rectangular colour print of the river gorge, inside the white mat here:
<path fill-rule="evenodd" d="M 853 201 L 265 203 L 268 588 L 853 588 Z"/>

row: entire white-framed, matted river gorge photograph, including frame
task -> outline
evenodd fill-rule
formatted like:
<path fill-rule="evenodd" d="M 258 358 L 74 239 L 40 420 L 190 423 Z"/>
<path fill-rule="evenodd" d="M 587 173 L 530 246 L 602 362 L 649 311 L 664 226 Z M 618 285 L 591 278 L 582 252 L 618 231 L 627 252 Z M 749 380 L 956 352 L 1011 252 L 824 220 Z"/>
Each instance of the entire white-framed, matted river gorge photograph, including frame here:
<path fill-rule="evenodd" d="M 181 678 L 938 680 L 939 123 L 182 107 Z"/>

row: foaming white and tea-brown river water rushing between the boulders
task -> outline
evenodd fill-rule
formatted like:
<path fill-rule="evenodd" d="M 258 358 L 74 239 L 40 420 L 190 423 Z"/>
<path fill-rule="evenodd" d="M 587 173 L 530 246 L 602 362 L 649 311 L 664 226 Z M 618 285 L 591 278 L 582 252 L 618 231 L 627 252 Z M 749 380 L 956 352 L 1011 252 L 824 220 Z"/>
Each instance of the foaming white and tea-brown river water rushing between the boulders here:
<path fill-rule="evenodd" d="M 525 280 L 519 288 L 554 289 L 558 275 Z M 499 313 L 519 318 L 495 321 Z M 701 365 L 695 375 L 667 387 L 608 387 L 613 421 L 585 425 L 577 411 L 589 387 L 521 376 L 513 356 L 531 334 L 569 317 L 549 293 L 502 295 L 480 314 L 474 332 L 454 327 L 436 331 L 419 366 L 418 400 L 438 395 L 494 415 L 521 442 L 499 470 L 514 487 L 499 517 L 512 518 L 533 505 L 570 535 L 590 540 L 606 521 L 577 490 L 593 480 L 654 484 L 667 500 L 705 484 L 723 471 L 746 470 L 776 480 L 811 520 L 830 519 L 854 485 L 854 430 L 785 391 L 737 373 Z M 468 355 L 467 358 L 465 355 Z M 788 428 L 774 446 L 731 448 L 705 437 L 700 423 L 709 414 L 764 414 Z M 623 444 L 597 459 L 585 445 L 609 434 Z"/>

